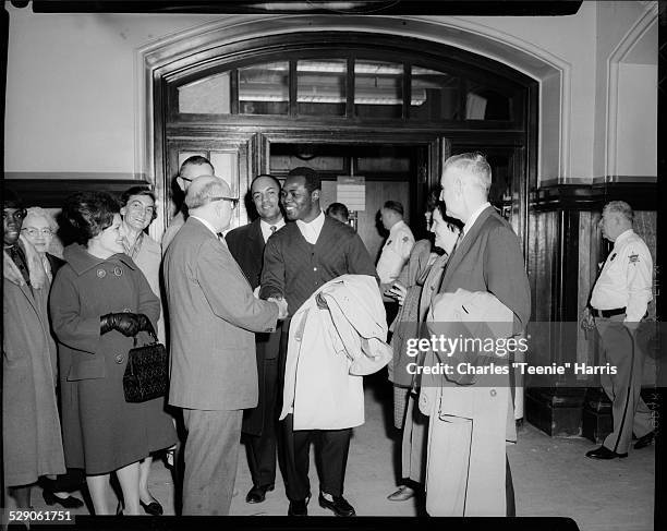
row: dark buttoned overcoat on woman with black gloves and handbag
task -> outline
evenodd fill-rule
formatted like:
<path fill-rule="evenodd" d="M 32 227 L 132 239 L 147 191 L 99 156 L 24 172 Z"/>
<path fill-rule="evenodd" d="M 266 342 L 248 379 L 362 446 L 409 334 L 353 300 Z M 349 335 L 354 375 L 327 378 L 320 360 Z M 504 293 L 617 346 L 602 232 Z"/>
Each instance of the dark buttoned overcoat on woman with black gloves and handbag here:
<path fill-rule="evenodd" d="M 117 312 L 143 313 L 155 327 L 160 302 L 125 254 L 101 260 L 75 243 L 64 258 L 49 305 L 60 359 L 65 462 L 102 474 L 177 442 L 165 399 L 125 402 L 122 379 L 133 339 L 99 330 L 100 316 Z"/>

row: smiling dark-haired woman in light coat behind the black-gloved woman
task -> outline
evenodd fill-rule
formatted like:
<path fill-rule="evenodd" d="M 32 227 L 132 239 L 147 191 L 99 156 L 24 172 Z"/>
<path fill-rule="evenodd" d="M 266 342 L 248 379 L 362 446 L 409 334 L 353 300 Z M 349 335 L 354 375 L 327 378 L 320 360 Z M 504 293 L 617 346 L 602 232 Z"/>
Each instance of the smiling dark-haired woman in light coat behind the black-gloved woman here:
<path fill-rule="evenodd" d="M 150 289 L 155 295 L 160 299 L 160 262 L 162 252 L 160 244 L 150 238 L 145 230 L 157 217 L 155 207 L 155 194 L 145 186 L 132 186 L 121 195 L 121 226 L 120 233 L 125 248 L 125 254 L 130 256 L 140 270 L 148 280 Z M 157 335 L 160 342 L 165 342 L 165 318 L 163 312 L 160 312 L 158 319 Z M 161 405 L 155 403 L 161 412 Z M 151 516 L 162 515 L 163 508 L 161 504 L 153 497 L 148 491 L 148 475 L 153 456 L 147 456 L 140 463 L 140 504 L 143 509 Z"/>

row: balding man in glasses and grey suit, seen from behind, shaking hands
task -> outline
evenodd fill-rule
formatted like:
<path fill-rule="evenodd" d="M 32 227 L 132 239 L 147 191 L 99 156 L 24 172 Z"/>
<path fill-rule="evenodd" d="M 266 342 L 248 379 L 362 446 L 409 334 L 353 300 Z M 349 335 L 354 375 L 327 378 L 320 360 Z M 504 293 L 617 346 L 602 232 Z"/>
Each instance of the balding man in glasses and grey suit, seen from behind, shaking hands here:
<path fill-rule="evenodd" d="M 184 515 L 228 515 L 243 409 L 257 406 L 255 331 L 287 316 L 283 301 L 260 301 L 218 233 L 238 198 L 214 176 L 196 178 L 185 196 L 190 217 L 165 256 L 170 309 L 169 403 L 187 431 Z"/>

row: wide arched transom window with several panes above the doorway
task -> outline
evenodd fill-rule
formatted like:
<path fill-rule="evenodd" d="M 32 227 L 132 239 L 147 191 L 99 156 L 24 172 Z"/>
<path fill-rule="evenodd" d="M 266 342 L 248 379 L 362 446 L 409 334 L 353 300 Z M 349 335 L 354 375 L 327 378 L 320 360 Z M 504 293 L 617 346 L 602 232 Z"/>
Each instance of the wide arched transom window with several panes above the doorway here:
<path fill-rule="evenodd" d="M 274 116 L 523 125 L 523 87 L 492 73 L 387 59 L 292 53 L 280 60 L 209 69 L 197 79 L 184 75 L 170 84 L 169 107 L 175 110 L 170 119 L 210 122 L 230 116 Z"/>

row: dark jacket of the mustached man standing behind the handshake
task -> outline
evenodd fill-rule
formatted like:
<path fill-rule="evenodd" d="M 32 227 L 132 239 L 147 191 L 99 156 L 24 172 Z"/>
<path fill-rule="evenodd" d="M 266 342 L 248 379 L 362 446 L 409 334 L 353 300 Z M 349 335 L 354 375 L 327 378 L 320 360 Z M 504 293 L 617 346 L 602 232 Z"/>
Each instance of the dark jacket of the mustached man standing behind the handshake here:
<path fill-rule="evenodd" d="M 229 231 L 225 237 L 229 252 L 241 266 L 253 290 L 259 286 L 262 260 L 264 256 L 264 236 L 262 234 L 259 222 L 260 220 L 256 219 L 252 224 Z M 269 406 L 267 400 L 272 399 L 272 397 L 268 397 L 266 394 L 269 385 L 266 382 L 267 372 L 264 369 L 264 364 L 267 360 L 278 358 L 281 324 L 278 324 L 278 329 L 275 333 L 255 334 L 259 399 L 256 408 L 246 409 L 243 412 L 242 430 L 244 433 L 262 435 L 264 415 Z"/>

